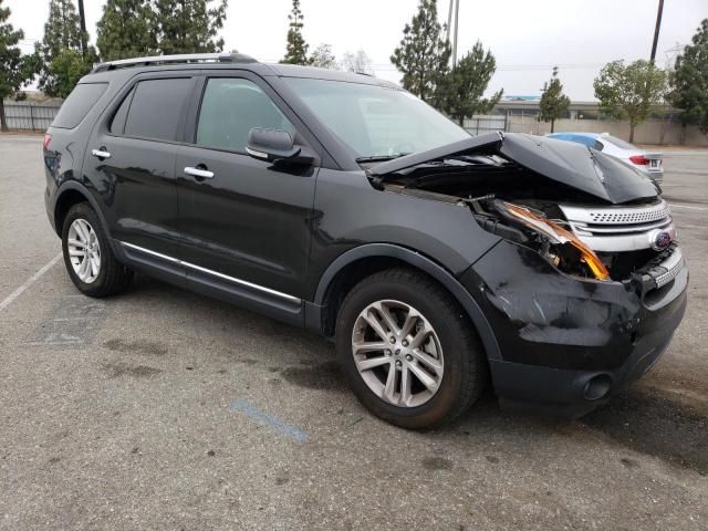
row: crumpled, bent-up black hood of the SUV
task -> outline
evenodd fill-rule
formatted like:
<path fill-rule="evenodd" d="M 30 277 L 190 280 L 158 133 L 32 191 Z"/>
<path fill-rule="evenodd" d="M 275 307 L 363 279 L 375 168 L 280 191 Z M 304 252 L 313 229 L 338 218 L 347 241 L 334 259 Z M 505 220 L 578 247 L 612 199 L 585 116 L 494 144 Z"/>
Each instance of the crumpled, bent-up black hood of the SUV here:
<path fill-rule="evenodd" d="M 652 199 L 660 189 L 641 173 L 605 155 L 565 140 L 520 133 L 489 133 L 382 163 L 367 173 L 386 177 L 414 166 L 465 155 L 499 155 L 549 179 L 611 204 Z"/>

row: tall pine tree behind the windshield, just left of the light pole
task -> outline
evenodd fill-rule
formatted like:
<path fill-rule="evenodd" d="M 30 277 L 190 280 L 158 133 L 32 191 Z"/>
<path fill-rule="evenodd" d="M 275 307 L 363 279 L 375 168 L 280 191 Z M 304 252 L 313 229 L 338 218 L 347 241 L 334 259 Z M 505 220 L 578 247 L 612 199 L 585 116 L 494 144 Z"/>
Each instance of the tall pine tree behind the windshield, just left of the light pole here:
<path fill-rule="evenodd" d="M 403 30 L 391 62 L 403 73 L 403 86 L 424 101 L 440 106 L 436 91 L 448 72 L 450 44 L 440 38 L 436 0 L 420 0 L 418 13 Z"/>

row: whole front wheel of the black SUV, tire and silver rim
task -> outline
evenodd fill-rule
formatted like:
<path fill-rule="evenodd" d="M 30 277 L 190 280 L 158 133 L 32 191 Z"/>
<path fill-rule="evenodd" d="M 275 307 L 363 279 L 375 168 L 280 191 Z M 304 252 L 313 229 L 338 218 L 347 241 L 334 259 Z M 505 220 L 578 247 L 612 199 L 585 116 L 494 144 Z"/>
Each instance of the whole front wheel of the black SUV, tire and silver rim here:
<path fill-rule="evenodd" d="M 487 376 L 479 340 L 459 304 L 405 269 L 376 273 L 348 293 L 336 351 L 362 404 L 405 428 L 452 420 L 479 397 Z"/>

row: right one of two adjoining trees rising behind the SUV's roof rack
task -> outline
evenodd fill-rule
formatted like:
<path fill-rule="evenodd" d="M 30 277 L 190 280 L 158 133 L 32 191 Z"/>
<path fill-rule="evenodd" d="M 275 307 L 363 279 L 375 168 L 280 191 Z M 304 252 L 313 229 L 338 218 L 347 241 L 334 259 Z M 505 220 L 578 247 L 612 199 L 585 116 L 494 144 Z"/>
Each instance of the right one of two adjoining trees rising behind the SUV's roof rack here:
<path fill-rule="evenodd" d="M 223 50 L 227 0 L 155 0 L 155 28 L 164 54 Z"/>

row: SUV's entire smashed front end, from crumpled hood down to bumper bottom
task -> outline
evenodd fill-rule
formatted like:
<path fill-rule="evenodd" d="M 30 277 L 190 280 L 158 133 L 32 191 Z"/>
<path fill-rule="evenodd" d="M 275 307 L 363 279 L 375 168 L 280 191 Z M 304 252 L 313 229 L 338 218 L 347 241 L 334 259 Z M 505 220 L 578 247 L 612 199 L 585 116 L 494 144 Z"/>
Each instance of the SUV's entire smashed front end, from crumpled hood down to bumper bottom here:
<path fill-rule="evenodd" d="M 688 271 L 668 206 L 611 156 L 491 134 L 367 175 L 383 190 L 467 208 L 500 238 L 460 280 L 494 330 L 504 403 L 585 413 L 644 374 L 683 319 Z"/>

